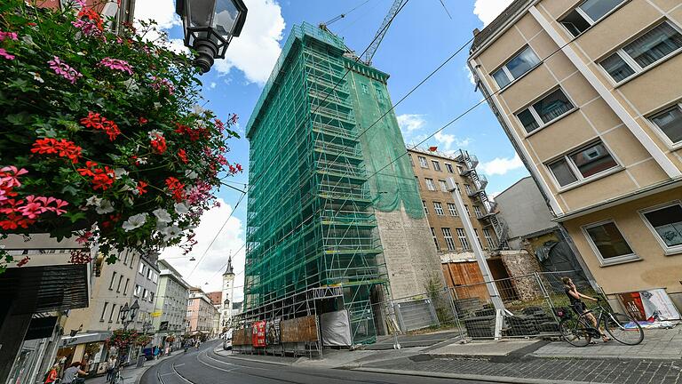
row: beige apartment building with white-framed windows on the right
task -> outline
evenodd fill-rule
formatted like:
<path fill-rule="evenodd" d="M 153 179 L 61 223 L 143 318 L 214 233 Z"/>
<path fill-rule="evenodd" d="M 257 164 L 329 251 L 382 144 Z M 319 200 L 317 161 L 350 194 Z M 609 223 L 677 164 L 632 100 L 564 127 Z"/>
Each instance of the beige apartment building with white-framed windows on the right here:
<path fill-rule="evenodd" d="M 470 68 L 597 284 L 682 308 L 682 2 L 516 0 Z"/>

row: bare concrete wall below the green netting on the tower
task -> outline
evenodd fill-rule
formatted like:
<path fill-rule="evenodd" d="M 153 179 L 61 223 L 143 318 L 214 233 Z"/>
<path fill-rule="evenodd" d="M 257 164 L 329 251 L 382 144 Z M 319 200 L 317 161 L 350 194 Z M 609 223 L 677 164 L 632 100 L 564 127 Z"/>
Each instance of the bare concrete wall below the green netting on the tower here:
<path fill-rule="evenodd" d="M 423 294 L 432 277 L 445 286 L 440 258 L 426 218 L 411 218 L 403 207 L 400 211 L 377 211 L 375 215 L 392 298 Z"/>

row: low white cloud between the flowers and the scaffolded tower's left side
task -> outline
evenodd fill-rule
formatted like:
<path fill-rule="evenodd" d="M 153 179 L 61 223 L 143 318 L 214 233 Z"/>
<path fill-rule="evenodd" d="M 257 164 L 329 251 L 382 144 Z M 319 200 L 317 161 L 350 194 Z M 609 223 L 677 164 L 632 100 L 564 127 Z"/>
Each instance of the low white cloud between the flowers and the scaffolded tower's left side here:
<path fill-rule="evenodd" d="M 194 250 L 182 255 L 182 250 L 178 247 L 166 248 L 161 253 L 161 259 L 167 259 L 173 268 L 178 269 L 178 272 L 185 278 L 187 283 L 198 286 L 204 292 L 215 292 L 222 289 L 223 272 L 227 257 L 232 252 L 232 265 L 234 273 L 237 274 L 234 280 L 235 288 L 234 298 L 241 301 L 243 297 L 242 285 L 244 284 L 244 228 L 242 220 L 236 217 L 231 217 L 227 220 L 227 224 L 216 241 L 210 246 L 210 250 L 206 252 L 206 256 L 201 260 L 194 273 L 190 276 L 192 269 L 197 262 L 202 258 L 203 252 L 209 246 L 211 240 L 216 236 L 218 229 L 225 222 L 226 217 L 232 212 L 232 207 L 225 203 L 222 199 L 218 199 L 220 207 L 212 208 L 203 213 L 202 222 L 195 229 L 196 241 L 198 244 L 194 245 Z M 237 252 L 239 251 L 239 252 Z M 191 257 L 196 261 L 189 261 Z M 208 284 L 204 284 L 208 283 Z"/>

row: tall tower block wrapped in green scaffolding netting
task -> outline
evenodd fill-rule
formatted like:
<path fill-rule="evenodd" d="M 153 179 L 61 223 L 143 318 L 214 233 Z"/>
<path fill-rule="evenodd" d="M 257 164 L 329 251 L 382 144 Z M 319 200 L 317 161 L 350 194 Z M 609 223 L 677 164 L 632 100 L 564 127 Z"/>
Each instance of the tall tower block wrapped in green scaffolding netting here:
<path fill-rule="evenodd" d="M 342 287 L 343 300 L 315 310 L 347 309 L 353 342 L 370 343 L 385 332 L 385 300 L 442 279 L 398 122 L 385 113 L 387 79 L 329 31 L 292 28 L 246 128 L 247 311 Z"/>

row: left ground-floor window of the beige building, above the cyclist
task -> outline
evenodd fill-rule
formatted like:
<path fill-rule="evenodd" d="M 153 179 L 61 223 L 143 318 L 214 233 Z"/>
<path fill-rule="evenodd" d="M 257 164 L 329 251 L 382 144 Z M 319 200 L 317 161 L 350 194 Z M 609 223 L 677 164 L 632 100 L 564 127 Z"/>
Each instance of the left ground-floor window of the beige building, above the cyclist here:
<path fill-rule="evenodd" d="M 614 221 L 591 224 L 583 227 L 583 231 L 602 264 L 638 259 Z"/>

